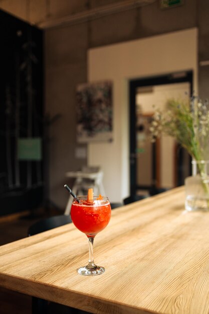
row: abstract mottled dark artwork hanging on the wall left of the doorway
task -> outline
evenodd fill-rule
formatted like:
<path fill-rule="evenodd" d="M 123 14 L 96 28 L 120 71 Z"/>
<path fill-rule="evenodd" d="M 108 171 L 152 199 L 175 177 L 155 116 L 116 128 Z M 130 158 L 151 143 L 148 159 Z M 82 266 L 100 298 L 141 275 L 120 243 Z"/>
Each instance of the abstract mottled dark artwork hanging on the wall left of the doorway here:
<path fill-rule="evenodd" d="M 76 99 L 78 142 L 112 141 L 112 82 L 79 84 Z"/>

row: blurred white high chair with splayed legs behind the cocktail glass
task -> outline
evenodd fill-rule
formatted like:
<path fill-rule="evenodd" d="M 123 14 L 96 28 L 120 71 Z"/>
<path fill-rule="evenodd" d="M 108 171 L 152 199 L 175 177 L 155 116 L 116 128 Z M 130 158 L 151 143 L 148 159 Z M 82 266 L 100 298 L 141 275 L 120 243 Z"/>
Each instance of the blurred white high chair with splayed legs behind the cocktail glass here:
<path fill-rule="evenodd" d="M 103 187 L 103 171 L 100 167 L 83 167 L 81 171 L 70 171 L 66 173 L 67 178 L 75 178 L 72 191 L 77 195 L 87 195 L 88 189 L 92 188 L 94 195 L 105 196 Z M 72 196 L 65 209 L 64 215 L 70 215 L 71 205 L 73 202 Z"/>

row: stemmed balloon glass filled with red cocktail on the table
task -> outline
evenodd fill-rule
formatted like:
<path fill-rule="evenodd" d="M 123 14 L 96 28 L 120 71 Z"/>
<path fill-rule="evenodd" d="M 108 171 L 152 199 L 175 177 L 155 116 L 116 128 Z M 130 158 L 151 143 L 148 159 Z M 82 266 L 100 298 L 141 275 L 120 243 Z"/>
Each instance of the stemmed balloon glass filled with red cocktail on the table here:
<path fill-rule="evenodd" d="M 87 196 L 78 196 L 77 200 L 74 199 L 71 206 L 71 219 L 76 228 L 87 235 L 89 242 L 89 263 L 79 268 L 78 273 L 87 276 L 100 275 L 105 268 L 94 263 L 93 243 L 96 234 L 110 221 L 110 202 L 107 197 L 100 199 L 98 196 L 94 196 L 93 200 L 88 200 Z"/>

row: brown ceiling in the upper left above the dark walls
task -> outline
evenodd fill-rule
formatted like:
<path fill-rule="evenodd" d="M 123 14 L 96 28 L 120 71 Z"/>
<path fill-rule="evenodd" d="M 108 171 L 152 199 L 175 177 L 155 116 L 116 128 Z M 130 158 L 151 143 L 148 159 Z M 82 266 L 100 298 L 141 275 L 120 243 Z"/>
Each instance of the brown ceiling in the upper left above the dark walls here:
<path fill-rule="evenodd" d="M 0 9 L 42 29 L 95 20 L 157 0 L 0 0 Z"/>

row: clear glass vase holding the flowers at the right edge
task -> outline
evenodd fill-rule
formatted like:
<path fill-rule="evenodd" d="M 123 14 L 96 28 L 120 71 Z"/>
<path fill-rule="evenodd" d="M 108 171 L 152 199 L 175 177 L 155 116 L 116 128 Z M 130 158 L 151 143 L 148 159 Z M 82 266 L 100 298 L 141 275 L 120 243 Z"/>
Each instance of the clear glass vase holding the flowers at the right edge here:
<path fill-rule="evenodd" d="M 185 179 L 185 209 L 209 211 L 209 161 L 192 161 L 192 176 Z"/>

